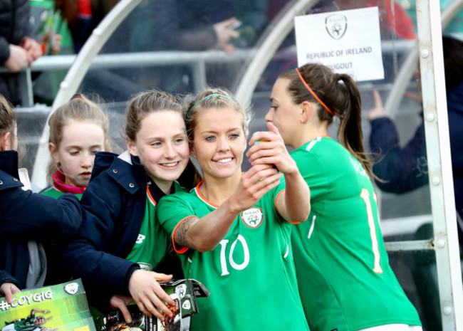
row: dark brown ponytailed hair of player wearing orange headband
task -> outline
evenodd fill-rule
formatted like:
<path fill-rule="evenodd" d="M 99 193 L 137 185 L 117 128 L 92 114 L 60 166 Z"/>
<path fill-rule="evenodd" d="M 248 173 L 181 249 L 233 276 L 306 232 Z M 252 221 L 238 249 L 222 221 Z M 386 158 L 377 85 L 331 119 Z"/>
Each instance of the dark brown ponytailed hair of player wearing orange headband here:
<path fill-rule="evenodd" d="M 308 63 L 298 70 L 313 93 L 339 118 L 340 144 L 358 159 L 370 178 L 373 178 L 370 162 L 363 147 L 360 93 L 353 78 L 345 73 L 334 73 L 326 65 L 318 63 Z M 318 119 L 322 122 L 327 121 L 328 125 L 333 122 L 333 116 L 307 90 L 296 70 L 289 70 L 281 74 L 280 78 L 287 78 L 291 81 L 288 85 L 288 92 L 292 96 L 293 103 L 300 104 L 304 101 L 315 103 L 318 105 Z"/>

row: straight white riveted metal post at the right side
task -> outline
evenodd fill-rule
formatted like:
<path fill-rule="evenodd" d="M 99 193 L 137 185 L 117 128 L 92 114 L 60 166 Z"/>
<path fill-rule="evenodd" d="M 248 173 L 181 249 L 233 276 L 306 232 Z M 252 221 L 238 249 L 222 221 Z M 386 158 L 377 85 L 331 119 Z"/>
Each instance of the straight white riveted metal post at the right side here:
<path fill-rule="evenodd" d="M 463 330 L 462 270 L 449 145 L 439 1 L 417 1 L 417 26 L 442 327 L 443 330 Z"/>

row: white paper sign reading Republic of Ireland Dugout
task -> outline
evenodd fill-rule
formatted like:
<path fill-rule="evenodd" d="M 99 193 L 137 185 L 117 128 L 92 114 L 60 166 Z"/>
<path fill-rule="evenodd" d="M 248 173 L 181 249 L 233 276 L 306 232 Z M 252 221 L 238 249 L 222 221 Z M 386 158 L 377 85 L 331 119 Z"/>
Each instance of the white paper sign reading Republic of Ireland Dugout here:
<path fill-rule="evenodd" d="M 298 66 L 322 63 L 355 80 L 384 78 L 378 7 L 294 18 Z"/>

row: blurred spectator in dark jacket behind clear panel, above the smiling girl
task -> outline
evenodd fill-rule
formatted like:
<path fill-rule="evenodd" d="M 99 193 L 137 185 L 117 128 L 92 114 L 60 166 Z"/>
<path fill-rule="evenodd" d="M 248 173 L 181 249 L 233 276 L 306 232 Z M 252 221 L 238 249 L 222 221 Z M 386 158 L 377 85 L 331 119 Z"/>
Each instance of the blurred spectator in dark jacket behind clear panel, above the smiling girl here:
<path fill-rule="evenodd" d="M 233 53 L 235 46 L 230 41 L 237 38 L 239 33 L 232 28 L 236 22 L 232 2 L 220 1 L 220 4 L 216 4 L 200 1 L 196 4 L 191 0 L 142 1 L 120 23 L 100 53 L 172 49 L 203 51 L 209 48 Z M 117 3 L 116 0 L 93 0 L 91 28 L 98 26 Z M 193 90 L 191 77 L 189 65 L 149 68 L 140 65 L 130 69 L 90 70 L 80 92 L 95 90 L 108 101 L 125 101 L 140 90 L 154 87 L 185 93 Z"/>

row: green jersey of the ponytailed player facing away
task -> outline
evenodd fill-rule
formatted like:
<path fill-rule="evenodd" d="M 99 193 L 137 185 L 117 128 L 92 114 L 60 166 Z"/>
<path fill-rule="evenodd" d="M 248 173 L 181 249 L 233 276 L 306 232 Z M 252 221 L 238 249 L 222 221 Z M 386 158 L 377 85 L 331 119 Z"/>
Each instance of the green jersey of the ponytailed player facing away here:
<path fill-rule="evenodd" d="M 421 325 L 389 266 L 368 173 L 329 137 L 291 152 L 311 189 L 292 232 L 299 293 L 312 331 Z"/>

